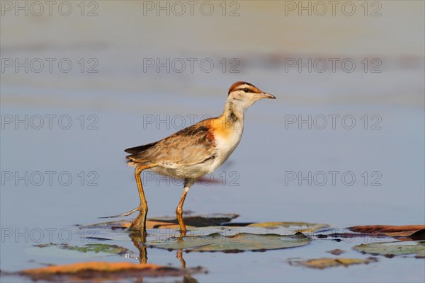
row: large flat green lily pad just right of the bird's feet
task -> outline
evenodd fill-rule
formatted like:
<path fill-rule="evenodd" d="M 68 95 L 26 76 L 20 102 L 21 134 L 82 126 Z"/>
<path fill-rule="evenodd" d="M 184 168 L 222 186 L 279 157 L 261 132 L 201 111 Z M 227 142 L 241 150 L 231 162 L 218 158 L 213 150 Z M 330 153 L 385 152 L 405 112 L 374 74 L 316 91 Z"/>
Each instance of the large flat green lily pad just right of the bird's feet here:
<path fill-rule="evenodd" d="M 280 248 L 294 248 L 310 243 L 310 238 L 302 233 L 293 236 L 277 234 L 256 235 L 253 233 L 237 233 L 233 236 L 224 236 L 212 233 L 208 236 L 190 236 L 169 238 L 168 241 L 150 241 L 148 246 L 169 250 L 186 249 L 189 251 L 223 251 L 237 253 L 247 250 L 275 250 Z"/>

